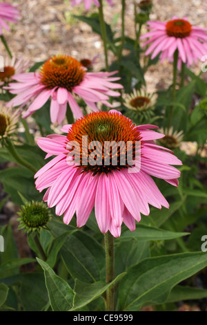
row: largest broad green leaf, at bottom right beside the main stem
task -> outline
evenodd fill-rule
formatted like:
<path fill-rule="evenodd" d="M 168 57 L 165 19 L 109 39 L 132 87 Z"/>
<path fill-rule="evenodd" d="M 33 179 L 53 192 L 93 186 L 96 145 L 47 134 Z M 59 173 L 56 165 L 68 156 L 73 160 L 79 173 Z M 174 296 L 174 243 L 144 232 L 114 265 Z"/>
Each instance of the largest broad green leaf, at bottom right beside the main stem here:
<path fill-rule="evenodd" d="M 207 254 L 188 252 L 144 259 L 128 269 L 119 284 L 121 310 L 139 310 L 143 304 L 162 304 L 179 282 L 207 266 Z"/>

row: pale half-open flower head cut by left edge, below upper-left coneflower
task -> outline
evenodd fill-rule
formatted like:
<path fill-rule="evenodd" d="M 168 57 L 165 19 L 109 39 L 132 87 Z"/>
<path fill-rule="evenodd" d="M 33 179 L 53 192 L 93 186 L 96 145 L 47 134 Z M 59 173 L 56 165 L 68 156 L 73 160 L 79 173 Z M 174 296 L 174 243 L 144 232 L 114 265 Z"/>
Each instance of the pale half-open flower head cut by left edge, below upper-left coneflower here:
<path fill-rule="evenodd" d="M 11 136 L 17 130 L 17 122 L 19 120 L 19 110 L 12 109 L 0 102 L 0 140 Z"/>

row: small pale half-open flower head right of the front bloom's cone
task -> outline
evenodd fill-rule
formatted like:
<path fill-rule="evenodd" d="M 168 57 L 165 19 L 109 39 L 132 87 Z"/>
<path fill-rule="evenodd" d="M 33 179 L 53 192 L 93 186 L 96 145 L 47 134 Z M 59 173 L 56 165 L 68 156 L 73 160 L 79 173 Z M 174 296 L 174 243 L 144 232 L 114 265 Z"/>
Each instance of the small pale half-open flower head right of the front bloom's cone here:
<path fill-rule="evenodd" d="M 173 127 L 170 127 L 170 129 L 160 129 L 161 133 L 164 133 L 164 138 L 159 139 L 159 142 L 161 142 L 162 145 L 169 149 L 174 149 L 179 147 L 180 142 L 184 138 L 184 132 L 183 131 L 174 131 Z"/>

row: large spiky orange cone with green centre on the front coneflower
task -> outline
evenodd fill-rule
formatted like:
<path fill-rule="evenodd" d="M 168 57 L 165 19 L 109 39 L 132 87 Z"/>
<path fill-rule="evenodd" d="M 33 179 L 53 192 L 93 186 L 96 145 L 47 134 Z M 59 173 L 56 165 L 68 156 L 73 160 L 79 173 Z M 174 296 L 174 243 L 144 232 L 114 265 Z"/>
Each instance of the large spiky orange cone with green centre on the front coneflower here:
<path fill-rule="evenodd" d="M 77 149 L 74 145 L 71 151 L 74 156 L 76 150 L 79 151 L 79 165 L 76 167 L 82 172 L 96 175 L 129 167 L 128 161 L 135 159 L 141 134 L 126 116 L 101 111 L 77 120 L 72 124 L 67 138 L 69 144 L 72 141 L 78 144 Z M 91 155 L 95 159 L 93 164 Z"/>

